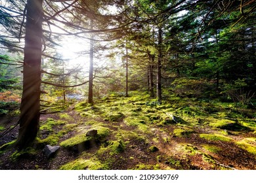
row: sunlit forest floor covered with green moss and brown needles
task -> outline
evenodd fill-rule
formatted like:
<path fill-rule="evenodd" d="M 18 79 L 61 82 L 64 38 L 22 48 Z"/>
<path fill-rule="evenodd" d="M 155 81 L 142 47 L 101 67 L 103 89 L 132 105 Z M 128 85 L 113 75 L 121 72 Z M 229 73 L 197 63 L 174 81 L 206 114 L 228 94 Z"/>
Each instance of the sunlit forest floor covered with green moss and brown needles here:
<path fill-rule="evenodd" d="M 255 108 L 133 92 L 44 114 L 35 146 L 0 150 L 0 169 L 256 169 Z M 3 119 L 1 119 L 3 122 Z M 2 123 L 0 134 L 11 124 Z M 88 131 L 96 129 L 96 135 Z M 18 127 L 0 139 L 14 142 Z M 51 158 L 45 145 L 60 149 Z"/>

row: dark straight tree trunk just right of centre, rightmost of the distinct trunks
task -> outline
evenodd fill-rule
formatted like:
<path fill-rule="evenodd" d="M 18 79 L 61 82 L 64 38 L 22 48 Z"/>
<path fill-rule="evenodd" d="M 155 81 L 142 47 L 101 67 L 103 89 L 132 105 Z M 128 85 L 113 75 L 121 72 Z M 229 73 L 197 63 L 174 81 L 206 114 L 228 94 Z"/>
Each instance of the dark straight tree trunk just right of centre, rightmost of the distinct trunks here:
<path fill-rule="evenodd" d="M 157 99 L 161 102 L 161 59 L 162 59 L 162 30 L 161 26 L 158 28 L 158 74 L 156 78 L 156 90 L 157 90 Z"/>

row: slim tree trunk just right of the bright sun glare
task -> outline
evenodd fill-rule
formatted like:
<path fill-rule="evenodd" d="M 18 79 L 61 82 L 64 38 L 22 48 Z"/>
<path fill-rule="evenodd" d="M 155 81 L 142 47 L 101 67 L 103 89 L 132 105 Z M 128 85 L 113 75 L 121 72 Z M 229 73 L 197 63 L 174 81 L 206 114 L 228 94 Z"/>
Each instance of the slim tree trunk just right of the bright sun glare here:
<path fill-rule="evenodd" d="M 90 22 L 91 28 L 93 28 L 93 20 Z M 91 34 L 90 40 L 90 67 L 89 67 L 89 92 L 88 92 L 88 103 L 93 104 L 93 52 L 94 52 L 94 41 L 93 34 Z"/>

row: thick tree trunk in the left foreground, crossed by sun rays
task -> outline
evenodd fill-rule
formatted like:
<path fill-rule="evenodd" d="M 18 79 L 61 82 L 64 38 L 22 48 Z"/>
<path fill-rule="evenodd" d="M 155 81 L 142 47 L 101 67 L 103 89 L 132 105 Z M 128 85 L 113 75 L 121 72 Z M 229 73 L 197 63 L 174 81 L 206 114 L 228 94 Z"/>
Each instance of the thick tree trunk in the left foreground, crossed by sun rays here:
<path fill-rule="evenodd" d="M 42 4 L 43 0 L 28 0 L 27 3 L 20 128 L 16 141 L 20 149 L 32 144 L 39 129 Z"/>

